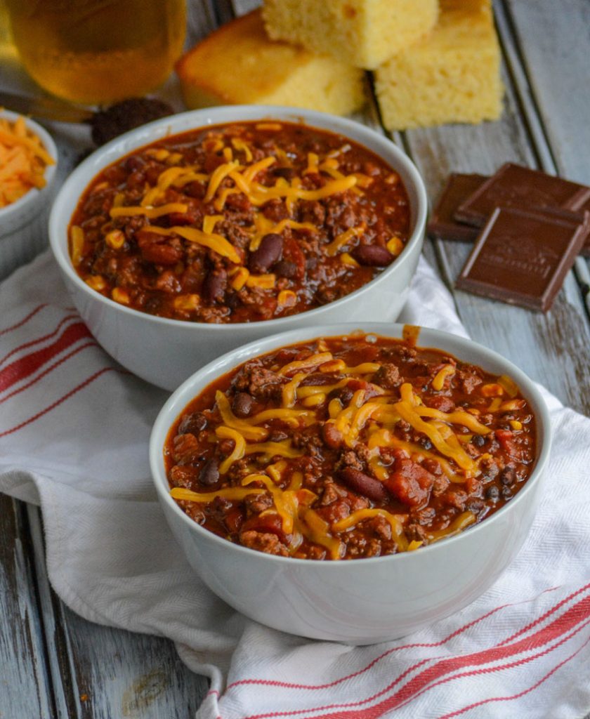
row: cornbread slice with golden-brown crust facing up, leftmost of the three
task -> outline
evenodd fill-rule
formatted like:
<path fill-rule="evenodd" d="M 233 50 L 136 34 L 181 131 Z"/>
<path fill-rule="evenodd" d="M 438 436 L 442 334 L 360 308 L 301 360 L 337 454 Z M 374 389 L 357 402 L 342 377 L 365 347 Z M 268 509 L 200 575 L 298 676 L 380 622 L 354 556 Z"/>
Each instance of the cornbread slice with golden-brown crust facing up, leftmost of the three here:
<path fill-rule="evenodd" d="M 364 103 L 362 70 L 269 40 L 260 10 L 199 42 L 176 72 L 189 108 L 260 103 L 345 115 Z"/>

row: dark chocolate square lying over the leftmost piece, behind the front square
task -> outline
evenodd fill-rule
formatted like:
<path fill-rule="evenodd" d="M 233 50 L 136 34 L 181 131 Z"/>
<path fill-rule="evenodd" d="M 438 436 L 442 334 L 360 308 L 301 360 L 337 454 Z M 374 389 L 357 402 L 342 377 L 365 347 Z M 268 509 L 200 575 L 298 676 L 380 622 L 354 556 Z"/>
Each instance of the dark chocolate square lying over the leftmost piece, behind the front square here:
<path fill-rule="evenodd" d="M 590 188 L 507 162 L 462 202 L 455 219 L 483 227 L 496 207 L 568 209 L 590 198 Z"/>

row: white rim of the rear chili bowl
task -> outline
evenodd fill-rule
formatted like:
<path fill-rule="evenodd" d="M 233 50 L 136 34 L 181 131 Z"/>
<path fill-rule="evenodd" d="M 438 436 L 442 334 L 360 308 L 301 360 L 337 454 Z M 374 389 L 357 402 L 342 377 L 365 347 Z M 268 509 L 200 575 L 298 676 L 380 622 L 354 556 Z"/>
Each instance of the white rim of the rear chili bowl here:
<path fill-rule="evenodd" d="M 233 117 L 229 117 L 230 115 L 233 115 Z M 189 128 L 175 129 L 175 127 L 179 124 L 182 125 L 184 122 L 193 118 L 195 120 L 194 129 L 230 122 L 250 122 L 257 119 L 278 119 L 283 122 L 301 122 L 301 124 L 307 124 L 310 127 L 317 127 L 318 129 L 327 130 L 329 132 L 344 134 L 350 137 L 350 139 L 353 139 L 353 141 L 357 142 L 359 145 L 366 145 L 363 141 L 364 138 L 370 139 L 378 145 L 381 145 L 385 152 L 389 152 L 395 157 L 398 167 L 403 169 L 403 173 L 405 175 L 403 180 L 404 186 L 407 188 L 408 193 L 410 194 L 413 191 L 417 197 L 417 201 L 415 203 L 411 203 L 412 213 L 415 212 L 414 229 L 404 249 L 400 255 L 396 257 L 394 262 L 391 262 L 389 267 L 386 267 L 385 270 L 376 275 L 376 277 L 368 283 L 362 285 L 360 288 L 354 290 L 354 292 L 351 292 L 348 295 L 338 298 L 333 302 L 329 302 L 326 305 L 315 307 L 304 312 L 299 312 L 286 317 L 276 317 L 274 319 L 259 320 L 255 322 L 229 322 L 227 324 L 215 324 L 159 317 L 126 307 L 115 302 L 111 298 L 101 295 L 101 293 L 96 292 L 96 290 L 92 290 L 92 288 L 90 288 L 89 285 L 81 279 L 78 273 L 76 273 L 76 270 L 74 270 L 71 264 L 67 244 L 67 225 L 64 227 L 63 221 L 60 221 L 60 213 L 63 211 L 63 205 L 68 202 L 72 194 L 75 194 L 77 196 L 77 201 L 79 201 L 81 194 L 86 191 L 86 188 L 89 186 L 92 179 L 96 177 L 99 172 L 104 170 L 104 168 L 108 167 L 113 162 L 117 162 L 117 160 L 121 157 L 124 157 L 131 152 L 135 152 L 135 150 L 140 149 L 140 147 L 157 142 L 158 139 L 163 139 L 163 137 L 181 134 L 182 132 L 190 132 Z M 314 125 L 314 122 L 318 122 L 319 124 Z M 166 129 L 168 132 L 158 134 L 158 131 L 161 132 Z M 153 137 L 147 137 L 148 134 L 153 134 Z M 126 143 L 130 142 L 132 142 L 133 146 L 127 147 Z M 377 154 L 376 150 L 371 150 L 371 152 Z M 104 161 L 105 159 L 106 161 Z M 389 160 L 385 158 L 382 159 L 391 165 Z M 82 179 L 86 178 L 87 175 L 89 175 L 89 178 Z M 79 190 L 81 185 L 83 185 L 82 191 Z M 103 145 L 95 150 L 91 155 L 89 155 L 89 157 L 86 157 L 86 159 L 83 160 L 83 162 L 81 162 L 75 170 L 73 170 L 73 173 L 71 173 L 67 180 L 65 180 L 65 183 L 63 183 L 63 186 L 60 188 L 58 195 L 55 197 L 49 218 L 49 242 L 55 260 L 58 262 L 60 269 L 63 273 L 65 273 L 68 279 L 74 283 L 76 288 L 83 290 L 89 298 L 103 304 L 106 308 L 112 308 L 112 310 L 122 312 L 124 315 L 135 317 L 137 318 L 137 321 L 145 321 L 155 325 L 169 325 L 182 328 L 186 331 L 191 331 L 189 328 L 194 328 L 193 331 L 202 331 L 204 328 L 207 328 L 207 331 L 217 333 L 232 330 L 236 331 L 237 328 L 241 329 L 250 326 L 253 328 L 268 327 L 270 333 L 271 331 L 279 331 L 279 329 L 282 329 L 283 327 L 288 327 L 290 324 L 301 321 L 301 317 L 305 317 L 306 319 L 309 317 L 309 319 L 312 320 L 317 314 L 324 312 L 326 308 L 332 308 L 339 302 L 341 303 L 351 299 L 354 301 L 355 298 L 358 298 L 361 294 L 365 293 L 368 288 L 375 288 L 376 284 L 386 281 L 391 273 L 396 271 L 396 268 L 412 261 L 412 250 L 416 249 L 417 245 L 419 246 L 424 239 L 427 214 L 428 198 L 422 176 L 406 152 L 395 145 L 395 143 L 386 137 L 386 135 L 380 134 L 376 132 L 376 130 L 355 122 L 354 120 L 316 110 L 307 110 L 281 105 L 223 105 L 181 112 L 147 123 L 112 139 L 110 142 L 107 142 L 106 145 Z M 70 219 L 71 216 L 67 219 L 68 224 Z M 63 242 L 63 234 L 65 234 L 65 245 Z"/>

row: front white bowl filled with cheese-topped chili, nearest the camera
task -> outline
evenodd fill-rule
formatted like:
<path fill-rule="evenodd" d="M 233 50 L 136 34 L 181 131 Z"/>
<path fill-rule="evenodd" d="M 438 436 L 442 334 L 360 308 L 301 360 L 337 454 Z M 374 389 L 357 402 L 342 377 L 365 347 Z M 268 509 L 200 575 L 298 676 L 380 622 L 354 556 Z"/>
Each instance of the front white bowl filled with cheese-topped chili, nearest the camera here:
<path fill-rule="evenodd" d="M 468 339 L 402 336 L 332 324 L 253 342 L 160 411 L 150 466 L 168 523 L 250 618 L 404 636 L 481 595 L 525 541 L 550 451 L 535 384 Z"/>

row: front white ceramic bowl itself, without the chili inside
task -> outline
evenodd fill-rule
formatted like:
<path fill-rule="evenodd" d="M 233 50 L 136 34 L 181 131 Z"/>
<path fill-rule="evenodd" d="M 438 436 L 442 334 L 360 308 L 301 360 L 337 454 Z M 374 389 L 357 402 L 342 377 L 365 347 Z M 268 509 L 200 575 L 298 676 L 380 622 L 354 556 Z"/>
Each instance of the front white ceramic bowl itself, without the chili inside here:
<path fill-rule="evenodd" d="M 448 616 L 484 592 L 522 546 L 535 515 L 550 449 L 548 411 L 524 372 L 471 340 L 422 329 L 418 345 L 437 347 L 519 385 L 537 421 L 537 459 L 524 487 L 504 507 L 450 539 L 406 554 L 348 562 L 275 557 L 232 544 L 202 528 L 169 494 L 163 446 L 173 422 L 209 383 L 241 362 L 289 344 L 355 329 L 401 337 L 399 324 L 331 324 L 252 342 L 196 372 L 165 403 L 150 439 L 158 499 L 186 558 L 219 597 L 260 623 L 302 636 L 371 644 L 404 636 Z"/>

